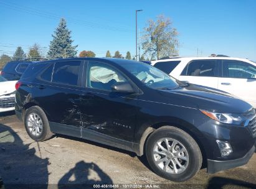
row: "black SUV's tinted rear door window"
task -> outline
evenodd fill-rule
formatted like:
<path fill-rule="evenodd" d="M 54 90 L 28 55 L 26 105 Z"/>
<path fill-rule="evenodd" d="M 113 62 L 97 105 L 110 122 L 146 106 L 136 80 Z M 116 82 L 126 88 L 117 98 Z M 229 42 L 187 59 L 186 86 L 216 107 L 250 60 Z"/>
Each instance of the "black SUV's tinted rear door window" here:
<path fill-rule="evenodd" d="M 62 85 L 78 85 L 80 65 L 80 61 L 56 62 L 52 82 Z"/>

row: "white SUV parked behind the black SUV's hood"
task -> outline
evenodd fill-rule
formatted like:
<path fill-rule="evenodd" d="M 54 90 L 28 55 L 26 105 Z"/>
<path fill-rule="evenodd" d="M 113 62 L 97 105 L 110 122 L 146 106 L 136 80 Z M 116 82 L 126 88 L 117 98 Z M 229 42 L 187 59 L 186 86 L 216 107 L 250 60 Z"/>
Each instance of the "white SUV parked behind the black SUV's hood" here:
<path fill-rule="evenodd" d="M 255 62 L 231 57 L 173 57 L 151 65 L 180 81 L 234 94 L 256 108 Z"/>

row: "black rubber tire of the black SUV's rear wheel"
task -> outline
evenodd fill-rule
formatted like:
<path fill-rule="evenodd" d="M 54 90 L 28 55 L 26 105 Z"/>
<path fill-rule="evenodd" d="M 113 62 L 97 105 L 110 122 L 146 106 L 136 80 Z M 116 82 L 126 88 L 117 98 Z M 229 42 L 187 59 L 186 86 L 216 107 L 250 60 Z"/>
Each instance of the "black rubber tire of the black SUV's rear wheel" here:
<path fill-rule="evenodd" d="M 31 131 L 29 131 L 29 126 L 27 123 L 28 116 L 31 113 L 36 113 L 42 119 L 42 132 L 39 136 L 34 136 Z M 39 106 L 32 106 L 31 108 L 26 109 L 25 116 L 24 116 L 24 124 L 27 131 L 27 134 L 33 139 L 34 141 L 46 141 L 53 136 L 53 133 L 50 131 L 49 121 L 44 113 L 44 111 Z"/>

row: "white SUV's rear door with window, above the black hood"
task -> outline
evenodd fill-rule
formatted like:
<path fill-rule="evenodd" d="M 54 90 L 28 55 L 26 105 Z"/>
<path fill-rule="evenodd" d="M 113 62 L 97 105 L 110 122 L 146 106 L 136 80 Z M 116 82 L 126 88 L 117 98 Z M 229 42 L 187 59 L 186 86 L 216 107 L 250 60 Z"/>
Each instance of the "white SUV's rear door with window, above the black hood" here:
<path fill-rule="evenodd" d="M 218 76 L 219 60 L 192 60 L 184 68 L 179 80 L 217 88 Z"/>

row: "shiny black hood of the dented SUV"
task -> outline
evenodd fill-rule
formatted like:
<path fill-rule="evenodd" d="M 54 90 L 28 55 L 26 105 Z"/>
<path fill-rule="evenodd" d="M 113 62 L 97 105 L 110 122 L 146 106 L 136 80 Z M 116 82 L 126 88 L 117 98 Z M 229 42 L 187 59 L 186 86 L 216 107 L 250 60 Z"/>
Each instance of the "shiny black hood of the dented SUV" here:
<path fill-rule="evenodd" d="M 180 106 L 218 113 L 245 113 L 252 108 L 249 103 L 232 94 L 206 86 L 189 84 L 176 90 L 162 90 L 162 93 L 179 102 Z"/>

